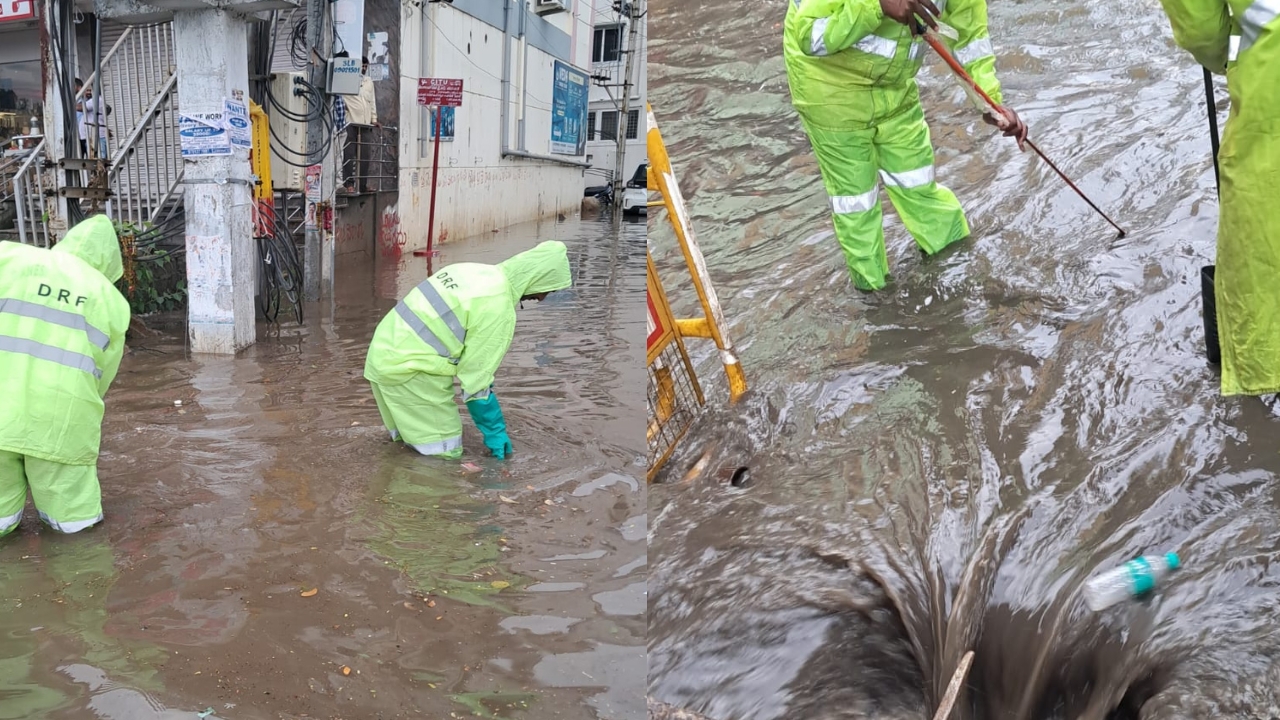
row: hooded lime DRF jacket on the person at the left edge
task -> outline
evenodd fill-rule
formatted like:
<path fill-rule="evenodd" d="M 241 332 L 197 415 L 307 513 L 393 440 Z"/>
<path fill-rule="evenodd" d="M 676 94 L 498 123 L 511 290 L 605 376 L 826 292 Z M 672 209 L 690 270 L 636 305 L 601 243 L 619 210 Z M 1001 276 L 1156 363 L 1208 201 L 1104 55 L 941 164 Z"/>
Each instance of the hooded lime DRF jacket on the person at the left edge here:
<path fill-rule="evenodd" d="M 51 250 L 0 242 L 0 450 L 97 462 L 102 396 L 124 355 L 129 302 L 111 220 L 76 225 Z"/>

